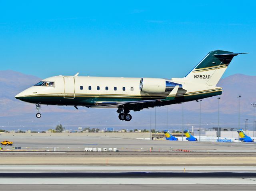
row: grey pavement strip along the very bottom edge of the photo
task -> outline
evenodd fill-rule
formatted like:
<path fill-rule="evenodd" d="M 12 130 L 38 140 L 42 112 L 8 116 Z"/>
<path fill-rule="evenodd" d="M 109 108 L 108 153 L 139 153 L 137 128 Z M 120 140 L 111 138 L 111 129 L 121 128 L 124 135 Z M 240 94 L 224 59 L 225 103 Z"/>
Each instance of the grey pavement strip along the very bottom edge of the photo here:
<path fill-rule="evenodd" d="M 241 190 L 255 190 L 255 184 L 36 184 L 36 185 L 25 185 L 25 184 L 4 184 L 1 185 L 0 190 L 3 191 L 166 191 L 166 190 L 177 190 L 177 191 L 241 191 Z"/>

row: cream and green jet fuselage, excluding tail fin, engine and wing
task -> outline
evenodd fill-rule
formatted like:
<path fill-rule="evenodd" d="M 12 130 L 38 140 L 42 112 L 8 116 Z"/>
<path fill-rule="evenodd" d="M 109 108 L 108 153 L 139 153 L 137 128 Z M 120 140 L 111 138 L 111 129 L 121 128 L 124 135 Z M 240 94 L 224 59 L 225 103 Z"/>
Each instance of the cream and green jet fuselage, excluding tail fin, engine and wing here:
<path fill-rule="evenodd" d="M 90 76 L 54 76 L 42 80 L 53 82 L 54 86 L 32 86 L 16 97 L 23 101 L 53 105 L 83 105 L 94 106 L 103 101 L 135 101 L 165 99 L 171 92 L 163 94 L 148 94 L 140 91 L 141 78 L 112 78 Z M 221 88 L 206 84 L 193 84 L 184 81 L 184 78 L 166 80 L 182 84 L 182 89 L 174 95 L 178 102 L 191 101 L 210 97 L 207 94 L 222 91 Z M 179 101 L 179 98 L 180 101 Z M 176 103 L 172 101 L 169 104 Z"/>

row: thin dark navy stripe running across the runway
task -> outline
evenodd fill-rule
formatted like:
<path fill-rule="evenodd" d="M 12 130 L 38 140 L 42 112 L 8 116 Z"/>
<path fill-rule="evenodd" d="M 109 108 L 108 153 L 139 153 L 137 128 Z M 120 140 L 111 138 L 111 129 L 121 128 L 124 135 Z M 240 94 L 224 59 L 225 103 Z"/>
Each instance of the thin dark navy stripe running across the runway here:
<path fill-rule="evenodd" d="M 90 181 L 94 181 L 94 178 L 102 178 L 102 180 L 112 180 L 112 182 L 122 182 L 126 179 L 133 178 L 252 178 L 256 181 L 256 173 L 248 172 L 8 172 L 1 173 L 2 178 L 80 178 L 84 177 Z M 114 178 L 114 179 L 113 179 Z M 124 179 L 125 178 L 125 179 Z M 201 181 L 201 180 L 198 181 Z M 76 179 L 75 179 L 76 180 Z M 88 183 L 84 182 L 83 183 Z M 104 181 L 103 181 L 104 182 Z M 176 182 L 178 183 L 178 182 Z"/>

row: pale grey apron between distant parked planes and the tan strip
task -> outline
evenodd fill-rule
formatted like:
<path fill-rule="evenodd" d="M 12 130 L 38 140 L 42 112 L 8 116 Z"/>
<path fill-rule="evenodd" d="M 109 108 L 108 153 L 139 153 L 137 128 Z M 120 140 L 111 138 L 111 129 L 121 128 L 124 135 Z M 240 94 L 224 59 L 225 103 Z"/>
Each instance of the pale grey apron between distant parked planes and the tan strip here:
<path fill-rule="evenodd" d="M 14 135 L 15 134 L 15 135 Z M 203 141 L 166 141 L 114 137 L 68 136 L 67 133 L 38 133 L 40 136 L 28 136 L 30 133 L 8 133 L 1 140 L 13 141 L 12 146 L 2 146 L 4 151 L 12 151 L 20 146 L 22 151 L 84 151 L 85 147 L 116 148 L 119 151 L 175 151 L 178 149 L 206 152 L 256 152 L 256 143 L 224 143 Z M 36 133 L 34 133 L 36 134 Z M 50 135 L 49 135 L 50 134 Z M 72 134 L 72 133 L 71 133 Z M 83 133 L 73 133 L 83 134 Z M 25 136 L 26 135 L 26 136 Z"/>

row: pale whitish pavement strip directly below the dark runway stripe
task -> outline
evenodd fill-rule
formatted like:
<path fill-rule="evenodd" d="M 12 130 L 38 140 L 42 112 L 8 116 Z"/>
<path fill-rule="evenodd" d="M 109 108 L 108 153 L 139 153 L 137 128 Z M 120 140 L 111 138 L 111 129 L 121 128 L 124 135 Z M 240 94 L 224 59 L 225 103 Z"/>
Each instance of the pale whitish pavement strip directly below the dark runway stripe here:
<path fill-rule="evenodd" d="M 2 178 L 3 184 L 256 184 L 255 178 Z"/>

